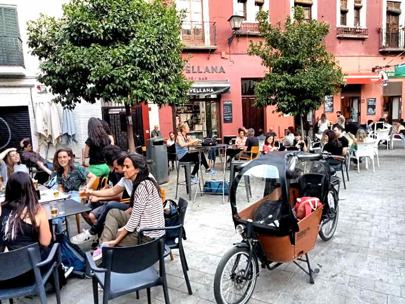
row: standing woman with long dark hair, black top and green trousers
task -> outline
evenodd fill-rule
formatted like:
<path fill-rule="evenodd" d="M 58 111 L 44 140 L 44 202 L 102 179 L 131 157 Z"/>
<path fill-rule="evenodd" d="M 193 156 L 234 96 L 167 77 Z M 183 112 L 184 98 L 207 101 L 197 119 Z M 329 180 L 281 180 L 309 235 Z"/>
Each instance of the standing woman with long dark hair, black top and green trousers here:
<path fill-rule="evenodd" d="M 111 139 L 98 118 L 89 119 L 87 131 L 89 138 L 86 140 L 84 157 L 90 158 L 90 172 L 99 177 L 107 177 L 110 169 L 105 163 L 103 149 L 111 144 Z"/>

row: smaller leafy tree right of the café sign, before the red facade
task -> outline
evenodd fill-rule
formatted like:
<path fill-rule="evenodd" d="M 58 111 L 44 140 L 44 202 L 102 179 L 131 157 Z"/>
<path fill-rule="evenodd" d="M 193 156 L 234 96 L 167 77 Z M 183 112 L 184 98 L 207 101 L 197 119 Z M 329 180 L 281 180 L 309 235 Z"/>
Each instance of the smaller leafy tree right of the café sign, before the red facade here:
<path fill-rule="evenodd" d="M 276 105 L 277 112 L 302 118 L 319 108 L 326 95 L 340 91 L 343 72 L 333 54 L 327 52 L 323 41 L 329 33 L 325 22 L 303 20 L 300 7 L 294 9 L 294 19 L 287 17 L 284 27 L 272 25 L 268 13 L 258 14 L 260 36 L 251 42 L 248 54 L 259 56 L 268 69 L 256 83 L 255 106 Z"/>

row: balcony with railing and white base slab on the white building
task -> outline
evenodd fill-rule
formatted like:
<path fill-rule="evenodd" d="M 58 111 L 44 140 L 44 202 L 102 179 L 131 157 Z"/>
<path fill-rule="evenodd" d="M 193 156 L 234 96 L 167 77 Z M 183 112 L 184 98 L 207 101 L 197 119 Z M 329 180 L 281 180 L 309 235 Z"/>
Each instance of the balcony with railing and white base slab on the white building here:
<path fill-rule="evenodd" d="M 25 75 L 20 37 L 0 35 L 0 75 Z"/>

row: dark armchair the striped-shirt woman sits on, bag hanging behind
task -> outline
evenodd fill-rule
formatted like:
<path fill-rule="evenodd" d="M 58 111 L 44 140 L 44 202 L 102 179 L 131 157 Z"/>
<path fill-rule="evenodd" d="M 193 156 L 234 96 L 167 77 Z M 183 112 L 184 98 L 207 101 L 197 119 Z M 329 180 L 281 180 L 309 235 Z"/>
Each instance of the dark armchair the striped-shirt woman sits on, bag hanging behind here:
<path fill-rule="evenodd" d="M 186 210 L 187 210 L 187 205 L 188 202 L 183 199 L 179 198 L 179 222 L 180 224 L 176 226 L 168 226 L 168 227 L 161 227 L 161 228 L 144 228 L 139 231 L 138 234 L 138 242 L 141 241 L 141 237 L 143 232 L 145 231 L 153 231 L 153 230 L 178 230 L 179 231 L 179 236 L 175 238 L 170 238 L 166 237 L 165 243 L 166 246 L 171 250 L 171 249 L 179 249 L 179 254 L 180 254 L 180 261 L 181 261 L 181 267 L 183 268 L 183 274 L 184 274 L 184 279 L 186 280 L 187 284 L 187 289 L 188 289 L 188 294 L 193 294 L 191 290 L 191 285 L 190 285 L 190 280 L 188 279 L 188 265 L 187 265 L 187 260 L 186 260 L 186 255 L 184 254 L 184 248 L 183 248 L 183 234 L 184 234 L 184 217 L 186 215 Z M 169 251 L 170 251 L 169 250 Z M 168 251 L 168 250 L 166 250 Z M 168 255 L 169 253 L 166 253 L 165 255 Z"/>

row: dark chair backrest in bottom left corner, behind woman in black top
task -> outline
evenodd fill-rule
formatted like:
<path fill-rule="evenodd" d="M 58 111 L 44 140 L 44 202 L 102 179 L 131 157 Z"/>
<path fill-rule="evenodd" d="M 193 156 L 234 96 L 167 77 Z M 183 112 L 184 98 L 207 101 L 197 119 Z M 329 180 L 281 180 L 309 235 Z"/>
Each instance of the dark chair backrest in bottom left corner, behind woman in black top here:
<path fill-rule="evenodd" d="M 18 261 L 18 262 L 17 262 Z M 38 243 L 0 253 L 0 280 L 9 280 L 30 271 L 41 261 Z M 9 265 L 9 267 L 5 267 Z"/>

